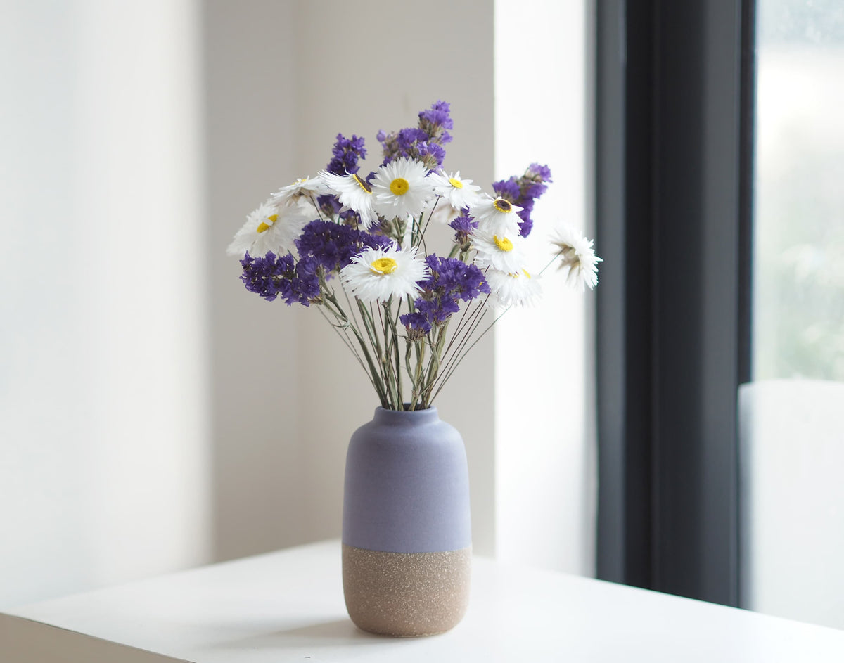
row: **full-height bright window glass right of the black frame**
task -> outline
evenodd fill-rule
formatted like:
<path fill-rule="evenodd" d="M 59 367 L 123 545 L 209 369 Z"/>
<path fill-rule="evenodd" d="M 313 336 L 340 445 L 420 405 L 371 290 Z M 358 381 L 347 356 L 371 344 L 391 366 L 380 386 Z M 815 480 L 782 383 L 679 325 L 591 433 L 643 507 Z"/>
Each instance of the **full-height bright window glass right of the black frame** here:
<path fill-rule="evenodd" d="M 741 596 L 844 628 L 844 3 L 757 3 Z"/>

